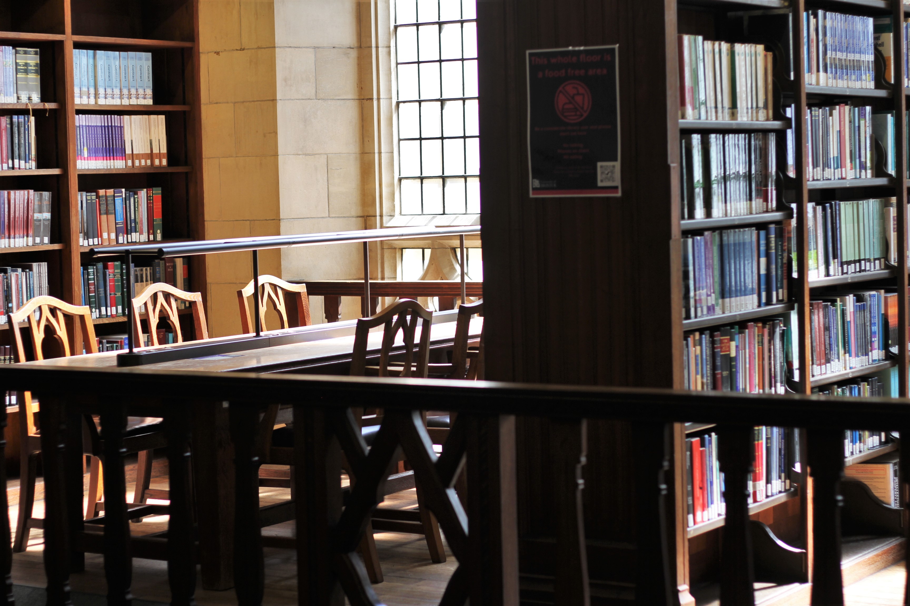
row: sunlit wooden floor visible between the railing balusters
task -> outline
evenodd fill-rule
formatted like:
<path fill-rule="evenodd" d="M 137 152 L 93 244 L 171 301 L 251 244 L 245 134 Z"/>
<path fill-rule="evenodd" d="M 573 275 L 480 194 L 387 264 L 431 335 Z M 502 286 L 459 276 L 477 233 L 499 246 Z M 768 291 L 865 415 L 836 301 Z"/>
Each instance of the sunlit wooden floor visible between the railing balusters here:
<path fill-rule="evenodd" d="M 153 488 L 167 488 L 166 478 L 155 478 Z M 130 487 L 131 488 L 131 487 Z M 44 515 L 44 497 L 39 484 L 36 493 L 35 515 Z M 10 497 L 10 520 L 15 522 L 18 508 L 18 481 L 8 483 Z M 288 499 L 287 489 L 263 488 L 260 491 L 260 502 L 263 505 Z M 383 506 L 396 508 L 416 507 L 417 499 L 413 491 L 399 492 L 391 495 Z M 167 526 L 166 516 L 146 518 L 145 522 L 133 524 L 136 534 L 164 530 Z M 263 530 L 266 534 L 290 536 L 293 534 L 293 522 L 279 524 Z M 376 533 L 376 545 L 385 582 L 373 588 L 380 600 L 389 606 L 430 606 L 437 604 L 442 597 L 446 582 L 455 570 L 458 562 L 449 555 L 448 561 L 442 564 L 430 562 L 426 542 L 422 536 L 400 534 L 398 532 Z M 28 550 L 16 553 L 13 558 L 13 582 L 17 585 L 32 587 L 45 586 L 45 571 L 42 561 L 44 541 L 42 531 L 32 531 Z M 297 603 L 297 558 L 294 551 L 283 549 L 266 550 L 266 595 L 267 606 L 289 605 Z M 846 588 L 845 606 L 901 606 L 904 603 L 904 584 L 906 578 L 905 563 L 900 562 L 862 581 L 855 582 Z M 74 591 L 104 594 L 106 582 L 104 561 L 101 555 L 86 555 L 86 571 L 70 577 Z M 197 603 L 221 606 L 236 604 L 234 591 L 205 591 L 200 589 L 197 581 Z M 170 593 L 167 589 L 167 563 L 136 559 L 133 563 L 133 595 L 137 599 L 168 603 Z M 808 606 L 808 601 L 805 601 Z M 802 606 L 793 604 L 792 606 Z"/>

